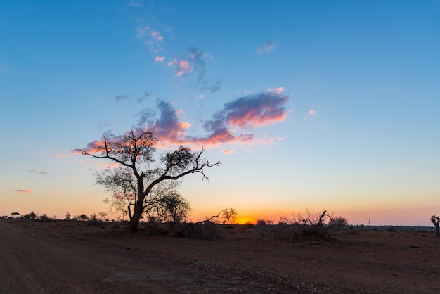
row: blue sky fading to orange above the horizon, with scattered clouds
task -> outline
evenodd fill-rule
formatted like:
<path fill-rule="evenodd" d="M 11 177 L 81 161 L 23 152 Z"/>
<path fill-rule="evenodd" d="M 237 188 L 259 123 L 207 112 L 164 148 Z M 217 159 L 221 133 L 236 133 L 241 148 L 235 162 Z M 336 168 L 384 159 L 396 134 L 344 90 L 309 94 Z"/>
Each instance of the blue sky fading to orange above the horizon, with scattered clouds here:
<path fill-rule="evenodd" d="M 205 148 L 191 218 L 440 215 L 439 1 L 0 3 L 0 215 L 108 212 L 76 148 Z"/>

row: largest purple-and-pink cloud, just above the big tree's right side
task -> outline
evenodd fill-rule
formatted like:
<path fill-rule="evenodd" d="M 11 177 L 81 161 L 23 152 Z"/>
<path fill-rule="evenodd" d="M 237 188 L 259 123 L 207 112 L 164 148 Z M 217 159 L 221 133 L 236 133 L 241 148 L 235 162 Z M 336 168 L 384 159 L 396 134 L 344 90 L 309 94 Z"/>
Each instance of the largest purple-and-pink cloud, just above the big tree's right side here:
<path fill-rule="evenodd" d="M 160 101 L 160 119 L 150 124 L 148 129 L 156 129 L 157 137 L 165 145 L 198 144 L 215 146 L 224 143 L 254 143 L 252 132 L 244 132 L 254 127 L 264 127 L 268 124 L 281 122 L 287 117 L 284 108 L 289 98 L 277 93 L 260 93 L 235 99 L 224 105 L 224 109 L 215 113 L 211 120 L 206 120 L 205 136 L 188 136 L 185 129 L 188 122 L 180 122 L 171 103 Z M 238 131 L 235 130 L 238 128 Z M 242 131 L 240 132 L 240 129 Z M 235 134 L 238 133 L 238 134 Z M 274 140 L 273 140 L 274 141 Z"/>

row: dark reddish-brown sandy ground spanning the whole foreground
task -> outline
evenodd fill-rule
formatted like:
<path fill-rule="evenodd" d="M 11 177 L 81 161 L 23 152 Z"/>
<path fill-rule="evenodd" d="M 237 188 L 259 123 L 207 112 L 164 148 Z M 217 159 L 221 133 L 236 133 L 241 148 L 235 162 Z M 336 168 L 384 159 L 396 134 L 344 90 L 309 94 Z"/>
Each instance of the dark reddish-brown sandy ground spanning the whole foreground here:
<path fill-rule="evenodd" d="M 432 232 L 344 229 L 325 245 L 217 230 L 200 241 L 0 219 L 0 293 L 440 293 Z"/>

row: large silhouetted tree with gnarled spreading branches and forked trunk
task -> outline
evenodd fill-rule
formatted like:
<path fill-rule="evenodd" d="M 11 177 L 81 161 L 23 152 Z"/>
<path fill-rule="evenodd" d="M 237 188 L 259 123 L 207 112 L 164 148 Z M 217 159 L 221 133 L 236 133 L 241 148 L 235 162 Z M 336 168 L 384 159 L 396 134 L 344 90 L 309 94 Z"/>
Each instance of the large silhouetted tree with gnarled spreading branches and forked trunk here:
<path fill-rule="evenodd" d="M 124 136 L 103 136 L 103 142 L 95 141 L 87 149 L 77 149 L 83 155 L 105 158 L 119 165 L 97 171 L 96 179 L 98 184 L 113 193 L 117 203 L 127 204 L 130 218 L 128 231 L 138 228 L 144 212 L 163 203 L 161 196 L 167 193 L 163 193 L 161 188 L 175 189 L 171 182 L 187 174 L 200 173 L 202 179 L 208 179 L 205 168 L 220 165 L 220 162 L 209 164 L 206 158 L 202 158 L 203 148 L 192 152 L 185 146 L 160 156 L 161 165 L 157 165 L 153 158 L 156 145 L 155 133 L 141 131 L 138 134 L 132 130 Z"/>

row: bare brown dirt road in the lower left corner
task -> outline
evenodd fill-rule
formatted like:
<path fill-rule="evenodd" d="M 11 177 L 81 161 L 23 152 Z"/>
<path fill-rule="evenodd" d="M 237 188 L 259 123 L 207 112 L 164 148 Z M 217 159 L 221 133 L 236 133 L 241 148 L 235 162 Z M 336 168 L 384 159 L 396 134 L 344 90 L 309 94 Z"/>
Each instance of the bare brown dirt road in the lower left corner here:
<path fill-rule="evenodd" d="M 160 260 L 127 251 L 0 222 L 0 293 L 172 292 Z"/>

